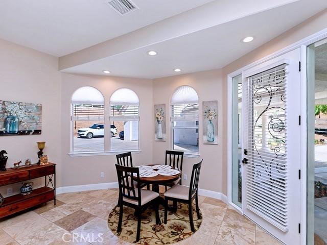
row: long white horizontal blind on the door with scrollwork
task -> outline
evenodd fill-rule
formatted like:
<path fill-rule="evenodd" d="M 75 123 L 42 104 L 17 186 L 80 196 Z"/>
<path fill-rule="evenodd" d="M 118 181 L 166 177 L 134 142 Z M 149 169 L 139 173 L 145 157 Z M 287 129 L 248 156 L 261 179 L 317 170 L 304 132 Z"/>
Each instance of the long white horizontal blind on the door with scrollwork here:
<path fill-rule="evenodd" d="M 246 208 L 286 232 L 287 65 L 249 77 L 247 85 Z"/>

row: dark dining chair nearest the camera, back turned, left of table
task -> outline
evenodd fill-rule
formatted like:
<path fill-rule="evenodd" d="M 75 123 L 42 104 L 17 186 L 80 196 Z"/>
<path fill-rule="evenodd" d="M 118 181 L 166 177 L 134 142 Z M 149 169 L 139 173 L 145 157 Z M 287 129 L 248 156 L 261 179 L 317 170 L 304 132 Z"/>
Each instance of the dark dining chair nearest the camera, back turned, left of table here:
<path fill-rule="evenodd" d="M 135 209 L 137 216 L 137 232 L 136 241 L 139 240 L 141 233 L 141 214 L 146 210 L 147 206 L 152 202 L 155 206 L 156 224 L 160 223 L 159 217 L 159 193 L 141 189 L 140 185 L 135 187 L 134 181 L 131 181 L 131 176 L 136 175 L 136 183 L 139 183 L 139 169 L 138 167 L 127 167 L 115 164 L 117 170 L 118 184 L 119 184 L 119 222 L 117 232 L 122 231 L 123 222 L 123 207 L 127 206 Z"/>

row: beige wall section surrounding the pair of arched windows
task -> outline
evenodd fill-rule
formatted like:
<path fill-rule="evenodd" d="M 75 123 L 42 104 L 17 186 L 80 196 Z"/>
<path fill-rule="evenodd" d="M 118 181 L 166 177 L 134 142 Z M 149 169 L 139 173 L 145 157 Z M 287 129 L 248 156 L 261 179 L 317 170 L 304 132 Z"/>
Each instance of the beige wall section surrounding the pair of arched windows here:
<path fill-rule="evenodd" d="M 62 107 L 62 179 L 63 186 L 84 185 L 96 183 L 116 182 L 115 155 L 71 157 L 68 155 L 71 144 L 70 104 L 72 94 L 82 86 L 93 86 L 99 89 L 105 99 L 105 122 L 109 125 L 109 100 L 111 94 L 119 88 L 129 88 L 139 97 L 139 154 L 133 154 L 133 164 L 152 163 L 152 80 L 118 78 L 105 76 L 79 76 L 62 74 L 61 107 Z M 149 119 L 151 118 L 151 119 Z M 109 131 L 105 131 L 109 134 Z M 109 136 L 109 135 L 108 135 Z M 106 137 L 110 139 L 110 137 Z M 100 178 L 104 172 L 104 178 Z"/>

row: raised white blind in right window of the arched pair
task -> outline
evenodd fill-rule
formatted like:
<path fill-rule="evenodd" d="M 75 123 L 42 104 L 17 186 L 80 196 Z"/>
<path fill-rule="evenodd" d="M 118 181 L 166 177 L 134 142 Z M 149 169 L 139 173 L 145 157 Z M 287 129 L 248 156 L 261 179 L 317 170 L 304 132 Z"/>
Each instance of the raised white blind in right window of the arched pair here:
<path fill-rule="evenodd" d="M 111 121 L 138 121 L 138 105 L 110 105 Z"/>

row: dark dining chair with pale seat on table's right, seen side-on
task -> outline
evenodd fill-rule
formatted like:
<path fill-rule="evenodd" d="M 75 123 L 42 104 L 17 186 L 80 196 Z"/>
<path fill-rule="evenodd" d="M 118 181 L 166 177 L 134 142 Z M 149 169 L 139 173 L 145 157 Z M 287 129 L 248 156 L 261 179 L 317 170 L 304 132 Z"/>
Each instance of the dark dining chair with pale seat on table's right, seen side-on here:
<path fill-rule="evenodd" d="M 191 183 L 190 187 L 186 187 L 183 185 L 174 185 L 168 191 L 165 192 L 165 224 L 167 224 L 167 214 L 168 214 L 168 201 L 177 201 L 181 203 L 187 203 L 189 205 L 189 218 L 191 224 L 191 230 L 195 232 L 194 224 L 193 224 L 193 216 L 192 216 L 192 202 L 195 199 L 196 205 L 196 213 L 198 215 L 198 219 L 200 216 L 199 209 L 199 200 L 198 200 L 198 185 L 199 185 L 199 177 L 202 161 L 194 164 L 192 169 Z"/>

